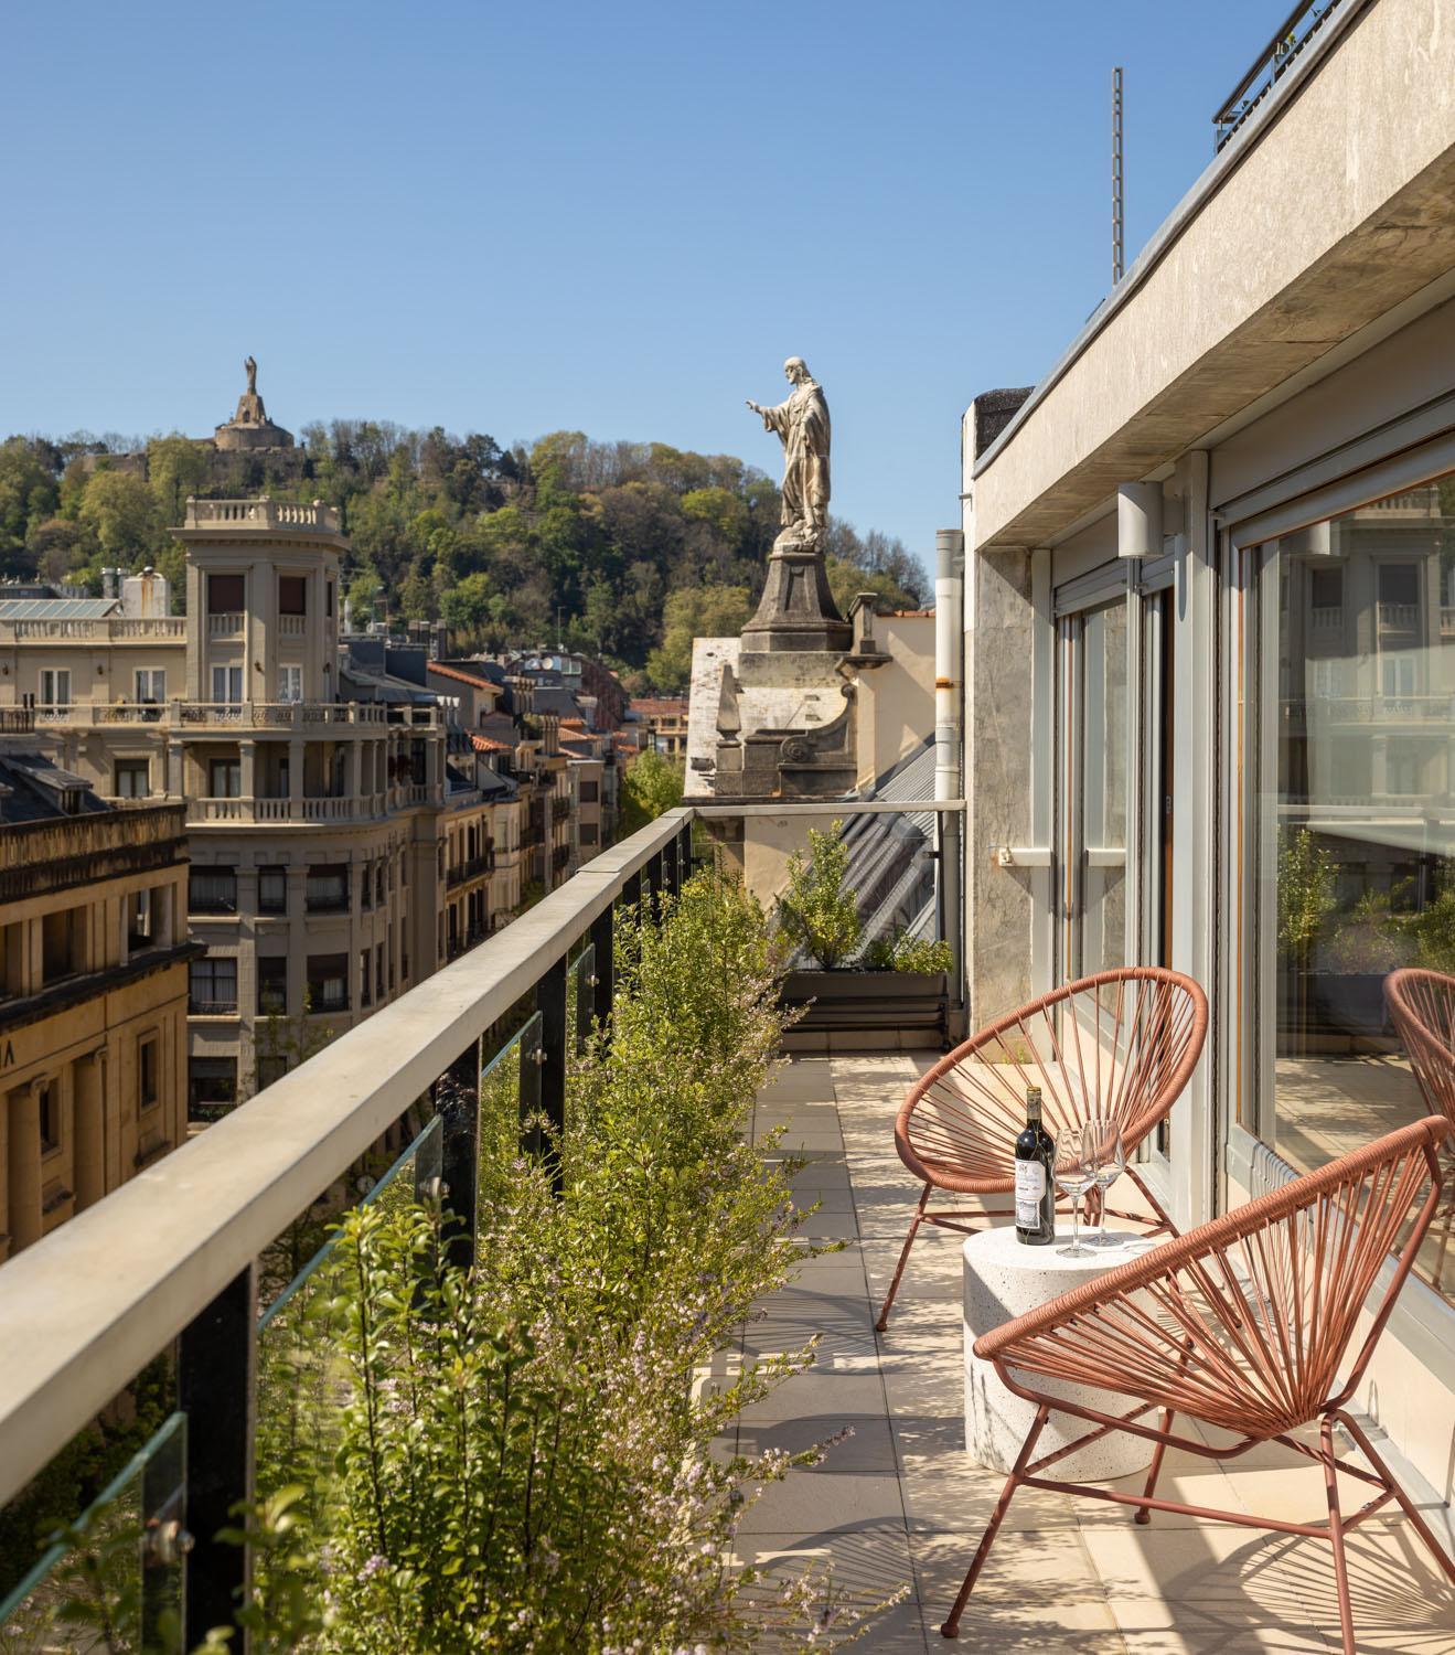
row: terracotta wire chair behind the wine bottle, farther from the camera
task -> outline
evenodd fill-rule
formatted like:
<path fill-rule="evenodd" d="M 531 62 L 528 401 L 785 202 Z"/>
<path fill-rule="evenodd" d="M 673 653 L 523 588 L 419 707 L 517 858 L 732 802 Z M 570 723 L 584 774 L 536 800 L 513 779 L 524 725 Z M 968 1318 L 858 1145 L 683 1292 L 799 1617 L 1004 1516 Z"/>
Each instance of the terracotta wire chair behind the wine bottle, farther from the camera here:
<path fill-rule="evenodd" d="M 879 1332 L 889 1326 L 920 1225 L 972 1235 L 1015 1210 L 992 1208 L 985 1197 L 1015 1195 L 1015 1140 L 1026 1120 L 1026 1086 L 1041 1087 L 1043 1119 L 1053 1137 L 1091 1115 L 1116 1117 L 1127 1177 L 1155 1215 L 1147 1233 L 1170 1231 L 1172 1220 L 1131 1165 L 1131 1155 L 1167 1117 L 1197 1067 L 1205 1038 L 1202 988 L 1180 971 L 1136 965 L 1084 976 L 1033 1000 L 972 1034 L 920 1076 L 894 1122 L 894 1147 L 924 1180 L 924 1190 L 876 1322 Z M 977 1195 L 982 1205 L 935 1210 L 929 1206 L 935 1190 Z M 1139 1213 L 1116 1216 L 1145 1221 Z"/>

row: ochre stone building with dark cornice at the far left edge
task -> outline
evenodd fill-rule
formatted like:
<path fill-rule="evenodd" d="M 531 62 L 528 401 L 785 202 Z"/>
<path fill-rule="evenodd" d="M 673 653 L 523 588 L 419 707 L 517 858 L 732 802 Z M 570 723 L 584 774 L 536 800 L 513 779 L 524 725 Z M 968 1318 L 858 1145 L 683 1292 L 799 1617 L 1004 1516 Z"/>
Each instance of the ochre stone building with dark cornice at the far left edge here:
<path fill-rule="evenodd" d="M 185 902 L 180 804 L 108 806 L 5 736 L 0 1259 L 184 1140 Z"/>

